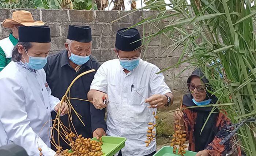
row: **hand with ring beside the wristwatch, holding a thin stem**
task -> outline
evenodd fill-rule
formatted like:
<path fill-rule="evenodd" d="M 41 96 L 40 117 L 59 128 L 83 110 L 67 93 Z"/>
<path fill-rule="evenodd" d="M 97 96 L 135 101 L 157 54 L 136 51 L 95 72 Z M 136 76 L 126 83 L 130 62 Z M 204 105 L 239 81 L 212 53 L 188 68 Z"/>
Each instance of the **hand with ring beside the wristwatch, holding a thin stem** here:
<path fill-rule="evenodd" d="M 150 104 L 148 108 L 161 108 L 167 104 L 167 97 L 165 95 L 155 94 L 145 100 L 145 103 Z"/>

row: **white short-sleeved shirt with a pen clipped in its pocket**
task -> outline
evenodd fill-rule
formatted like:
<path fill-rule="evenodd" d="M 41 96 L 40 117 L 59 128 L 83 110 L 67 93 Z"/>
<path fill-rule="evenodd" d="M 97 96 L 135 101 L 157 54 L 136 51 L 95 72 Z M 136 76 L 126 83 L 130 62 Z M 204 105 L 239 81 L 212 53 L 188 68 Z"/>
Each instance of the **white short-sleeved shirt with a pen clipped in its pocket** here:
<path fill-rule="evenodd" d="M 108 94 L 107 135 L 127 138 L 122 155 L 148 155 L 156 151 L 156 142 L 151 141 L 148 147 L 144 143 L 148 122 L 154 119 L 144 98 L 171 91 L 163 74 L 156 74 L 160 69 L 154 64 L 140 59 L 138 67 L 127 75 L 123 70 L 118 59 L 106 61 L 95 74 L 91 89 Z"/>

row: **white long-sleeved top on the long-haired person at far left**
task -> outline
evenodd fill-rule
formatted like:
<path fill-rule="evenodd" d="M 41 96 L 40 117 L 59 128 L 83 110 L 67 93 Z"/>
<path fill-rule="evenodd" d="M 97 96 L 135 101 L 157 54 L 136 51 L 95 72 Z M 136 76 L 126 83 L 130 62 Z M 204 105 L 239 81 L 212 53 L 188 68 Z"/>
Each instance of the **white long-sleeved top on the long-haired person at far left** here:
<path fill-rule="evenodd" d="M 44 69 L 11 61 L 0 72 L 0 146 L 17 144 L 29 156 L 54 156 L 50 149 L 51 111 L 60 102 L 51 95 Z"/>

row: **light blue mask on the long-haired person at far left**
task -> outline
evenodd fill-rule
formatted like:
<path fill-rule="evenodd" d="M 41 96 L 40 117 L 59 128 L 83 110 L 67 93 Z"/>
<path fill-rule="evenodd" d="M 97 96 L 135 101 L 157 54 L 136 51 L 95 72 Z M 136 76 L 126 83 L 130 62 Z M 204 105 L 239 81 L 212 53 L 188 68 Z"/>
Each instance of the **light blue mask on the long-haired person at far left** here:
<path fill-rule="evenodd" d="M 24 47 L 25 49 L 25 47 Z M 25 49 L 26 53 L 27 50 Z M 29 56 L 29 54 L 27 53 L 27 56 Z M 23 55 L 22 55 L 23 57 Z M 31 69 L 35 69 L 35 70 L 39 70 L 45 67 L 46 63 L 47 63 L 47 57 L 34 57 L 34 56 L 29 56 L 29 63 L 27 63 L 26 59 L 23 57 L 23 59 L 26 62 L 26 65 L 31 68 Z"/>

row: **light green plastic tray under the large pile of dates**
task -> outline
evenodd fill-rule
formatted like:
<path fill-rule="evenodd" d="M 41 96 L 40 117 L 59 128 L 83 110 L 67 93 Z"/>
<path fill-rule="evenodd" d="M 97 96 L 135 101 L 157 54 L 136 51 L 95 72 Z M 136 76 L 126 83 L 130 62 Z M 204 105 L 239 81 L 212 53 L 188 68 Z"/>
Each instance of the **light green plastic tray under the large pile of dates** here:
<path fill-rule="evenodd" d="M 91 140 L 97 140 L 97 138 L 94 137 Z M 104 153 L 102 156 L 113 156 L 124 148 L 125 141 L 125 137 L 102 136 L 102 152 Z M 71 153 L 72 151 L 69 150 L 68 152 Z"/>

